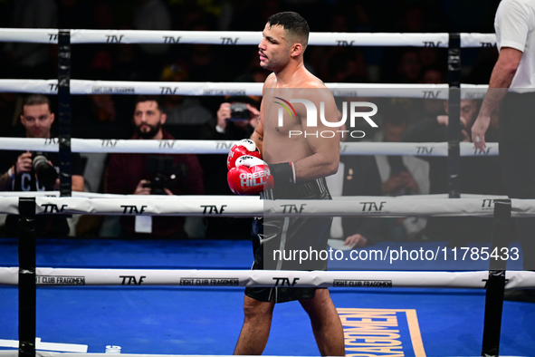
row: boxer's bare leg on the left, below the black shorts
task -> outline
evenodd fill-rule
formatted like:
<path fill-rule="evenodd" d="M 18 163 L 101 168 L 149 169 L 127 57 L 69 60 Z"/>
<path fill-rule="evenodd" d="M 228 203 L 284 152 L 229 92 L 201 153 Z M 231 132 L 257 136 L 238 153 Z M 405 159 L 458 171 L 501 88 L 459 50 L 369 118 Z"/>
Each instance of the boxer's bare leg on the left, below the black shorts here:
<path fill-rule="evenodd" d="M 274 300 L 262 302 L 245 295 L 244 327 L 236 343 L 234 354 L 262 354 L 272 326 Z"/>

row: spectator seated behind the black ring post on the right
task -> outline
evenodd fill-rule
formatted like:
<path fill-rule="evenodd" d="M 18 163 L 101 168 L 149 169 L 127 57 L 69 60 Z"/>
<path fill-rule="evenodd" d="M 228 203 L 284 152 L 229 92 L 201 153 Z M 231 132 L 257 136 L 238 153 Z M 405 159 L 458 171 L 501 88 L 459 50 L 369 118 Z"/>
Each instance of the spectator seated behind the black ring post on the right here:
<path fill-rule="evenodd" d="M 459 140 L 471 142 L 469 132 L 477 115 L 477 101 L 461 100 L 461 131 Z M 424 119 L 409 127 L 403 135 L 404 141 L 444 142 L 447 141 L 449 123 L 448 101 L 444 101 L 445 115 Z M 422 157 L 429 162 L 429 193 L 448 192 L 447 158 Z M 492 157 L 460 158 L 461 192 L 481 195 L 502 194 L 497 161 Z M 491 236 L 491 222 L 480 217 L 430 217 L 425 236 L 433 240 L 456 242 L 486 241 Z"/>

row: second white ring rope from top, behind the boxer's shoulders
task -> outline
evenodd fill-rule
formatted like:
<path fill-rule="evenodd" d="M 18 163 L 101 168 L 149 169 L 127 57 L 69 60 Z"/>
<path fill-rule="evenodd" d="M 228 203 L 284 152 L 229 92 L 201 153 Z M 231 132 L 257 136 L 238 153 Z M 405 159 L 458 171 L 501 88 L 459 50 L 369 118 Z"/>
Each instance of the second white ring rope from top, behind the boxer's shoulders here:
<path fill-rule="evenodd" d="M 0 80 L 0 92 L 57 94 L 57 80 Z M 335 97 L 448 99 L 447 84 L 325 83 Z M 71 94 L 262 95 L 263 83 L 71 80 Z M 461 84 L 461 99 L 483 99 L 488 85 Z M 526 89 L 525 92 L 528 92 Z"/>

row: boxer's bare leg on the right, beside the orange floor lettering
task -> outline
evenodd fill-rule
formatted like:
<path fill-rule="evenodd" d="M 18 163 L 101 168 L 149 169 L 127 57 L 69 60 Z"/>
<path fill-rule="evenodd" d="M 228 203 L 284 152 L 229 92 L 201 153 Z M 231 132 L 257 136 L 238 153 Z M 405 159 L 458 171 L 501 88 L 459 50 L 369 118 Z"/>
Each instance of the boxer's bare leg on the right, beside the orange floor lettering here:
<path fill-rule="evenodd" d="M 318 289 L 311 299 L 299 301 L 310 316 L 312 331 L 322 356 L 344 356 L 344 331 L 329 290 Z"/>

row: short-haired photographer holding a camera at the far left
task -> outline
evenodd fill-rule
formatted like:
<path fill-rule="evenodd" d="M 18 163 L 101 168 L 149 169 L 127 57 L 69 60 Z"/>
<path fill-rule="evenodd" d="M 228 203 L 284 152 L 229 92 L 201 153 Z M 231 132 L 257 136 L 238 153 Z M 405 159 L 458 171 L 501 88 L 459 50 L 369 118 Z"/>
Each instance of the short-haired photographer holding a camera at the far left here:
<path fill-rule="evenodd" d="M 33 94 L 23 101 L 21 123 L 26 138 L 51 138 L 54 114 L 51 103 L 41 94 Z M 4 151 L 2 153 L 0 189 L 4 191 L 52 191 L 60 187 L 59 154 L 57 152 Z M 72 190 L 83 191 L 83 168 L 81 157 L 72 153 Z M 6 236 L 17 234 L 18 216 L 5 220 Z M 36 217 L 37 236 L 67 237 L 69 225 L 61 215 L 40 215 Z"/>

